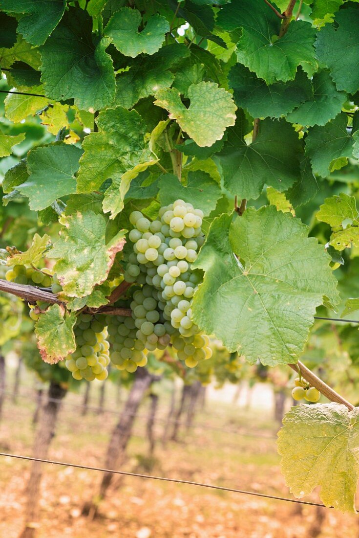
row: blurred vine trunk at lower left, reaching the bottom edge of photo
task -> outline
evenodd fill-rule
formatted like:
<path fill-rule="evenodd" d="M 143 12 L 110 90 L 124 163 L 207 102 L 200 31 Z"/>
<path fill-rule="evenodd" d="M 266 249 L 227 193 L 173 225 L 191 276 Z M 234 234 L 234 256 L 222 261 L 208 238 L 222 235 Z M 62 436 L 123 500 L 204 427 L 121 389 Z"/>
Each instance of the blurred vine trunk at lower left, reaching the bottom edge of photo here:
<path fill-rule="evenodd" d="M 35 434 L 33 456 L 47 459 L 48 449 L 55 435 L 56 422 L 61 406 L 61 400 L 67 393 L 54 381 L 48 389 L 48 401 L 40 415 L 39 425 Z M 32 462 L 30 478 L 26 488 L 25 526 L 19 538 L 33 538 L 35 536 L 34 522 L 39 515 L 40 483 L 42 478 L 42 463 Z"/>

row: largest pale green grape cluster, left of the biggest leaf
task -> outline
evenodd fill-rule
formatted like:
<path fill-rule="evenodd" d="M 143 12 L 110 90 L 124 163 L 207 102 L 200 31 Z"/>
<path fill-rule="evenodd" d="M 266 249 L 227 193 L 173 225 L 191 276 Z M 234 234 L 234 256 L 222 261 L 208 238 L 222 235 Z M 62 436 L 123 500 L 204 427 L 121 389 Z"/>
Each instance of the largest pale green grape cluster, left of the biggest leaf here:
<path fill-rule="evenodd" d="M 183 200 L 162 207 L 159 220 L 152 222 L 133 211 L 128 234 L 133 250 L 124 273 L 127 282 L 142 286 L 130 304 L 141 351 L 164 349 L 171 342 L 189 367 L 212 354 L 209 338 L 191 320 L 191 299 L 202 273 L 190 265 L 204 243 L 202 219 L 203 212 Z"/>

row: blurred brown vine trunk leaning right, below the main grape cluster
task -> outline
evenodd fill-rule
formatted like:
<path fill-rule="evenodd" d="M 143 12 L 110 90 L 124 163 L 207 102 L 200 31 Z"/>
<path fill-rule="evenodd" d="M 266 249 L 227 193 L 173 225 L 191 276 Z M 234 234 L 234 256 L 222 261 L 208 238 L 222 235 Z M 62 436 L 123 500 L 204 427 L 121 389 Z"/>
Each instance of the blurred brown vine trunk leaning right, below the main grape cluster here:
<path fill-rule="evenodd" d="M 119 421 L 112 430 L 104 464 L 106 469 L 116 469 L 118 461 L 123 461 L 138 409 L 152 381 L 153 376 L 145 368 L 139 368 L 136 371 L 130 393 L 128 394 L 125 406 L 121 410 Z M 89 515 L 90 518 L 94 518 L 97 515 L 99 501 L 104 499 L 112 478 L 113 474 L 111 472 L 103 473 L 99 494 L 91 502 L 84 504 L 82 509 L 84 515 Z"/>

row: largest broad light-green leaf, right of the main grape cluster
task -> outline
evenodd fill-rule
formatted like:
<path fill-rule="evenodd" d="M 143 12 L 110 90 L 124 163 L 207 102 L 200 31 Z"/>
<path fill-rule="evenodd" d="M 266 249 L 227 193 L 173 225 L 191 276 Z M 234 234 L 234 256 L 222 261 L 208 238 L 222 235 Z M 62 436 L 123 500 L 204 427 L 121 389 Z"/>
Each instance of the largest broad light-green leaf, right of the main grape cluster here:
<path fill-rule="evenodd" d="M 315 308 L 325 297 L 339 300 L 330 258 L 307 226 L 274 206 L 231 221 L 222 215 L 212 223 L 193 264 L 205 271 L 193 321 L 251 364 L 296 363 Z"/>

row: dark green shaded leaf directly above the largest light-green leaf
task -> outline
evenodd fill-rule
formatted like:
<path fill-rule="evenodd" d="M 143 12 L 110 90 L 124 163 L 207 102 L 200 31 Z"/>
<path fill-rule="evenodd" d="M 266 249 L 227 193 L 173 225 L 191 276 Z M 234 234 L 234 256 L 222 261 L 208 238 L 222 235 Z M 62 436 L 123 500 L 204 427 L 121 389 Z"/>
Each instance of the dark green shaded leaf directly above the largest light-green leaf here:
<path fill-rule="evenodd" d="M 264 183 L 281 192 L 299 179 L 303 150 L 298 134 L 284 119 L 261 120 L 259 134 L 249 146 L 242 134 L 239 120 L 228 130 L 224 147 L 217 154 L 229 192 L 256 199 Z"/>

